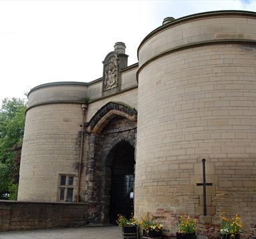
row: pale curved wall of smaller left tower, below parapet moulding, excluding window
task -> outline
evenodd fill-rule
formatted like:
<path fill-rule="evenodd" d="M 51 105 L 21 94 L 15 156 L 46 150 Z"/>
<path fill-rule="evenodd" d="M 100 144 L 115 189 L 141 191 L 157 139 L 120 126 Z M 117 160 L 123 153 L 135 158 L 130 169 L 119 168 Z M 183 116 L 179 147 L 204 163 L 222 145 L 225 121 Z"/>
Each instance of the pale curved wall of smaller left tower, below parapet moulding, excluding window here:
<path fill-rule="evenodd" d="M 57 202 L 59 174 L 75 176 L 76 200 L 80 124 L 80 104 L 41 105 L 27 111 L 18 200 Z"/>

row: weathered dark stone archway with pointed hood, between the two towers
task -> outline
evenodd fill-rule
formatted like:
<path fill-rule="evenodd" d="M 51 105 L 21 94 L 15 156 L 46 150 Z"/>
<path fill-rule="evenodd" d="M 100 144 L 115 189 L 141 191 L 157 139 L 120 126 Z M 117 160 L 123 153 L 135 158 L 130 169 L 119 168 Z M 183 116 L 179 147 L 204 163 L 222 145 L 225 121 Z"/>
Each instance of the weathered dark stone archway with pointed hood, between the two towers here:
<path fill-rule="evenodd" d="M 118 208 L 113 208 L 113 200 L 116 199 L 112 195 L 112 183 L 118 180 L 118 176 L 119 182 L 125 178 L 131 182 L 126 196 L 133 192 L 134 176 L 129 179 L 129 175 L 134 174 L 136 117 L 135 109 L 110 102 L 86 124 L 90 150 L 85 193 L 87 201 L 96 204 L 96 213 L 101 223 L 115 222 L 117 213 L 124 214 Z M 124 169 L 122 172 L 121 168 Z M 130 200 L 130 207 L 127 216 L 133 211 L 133 200 Z"/>

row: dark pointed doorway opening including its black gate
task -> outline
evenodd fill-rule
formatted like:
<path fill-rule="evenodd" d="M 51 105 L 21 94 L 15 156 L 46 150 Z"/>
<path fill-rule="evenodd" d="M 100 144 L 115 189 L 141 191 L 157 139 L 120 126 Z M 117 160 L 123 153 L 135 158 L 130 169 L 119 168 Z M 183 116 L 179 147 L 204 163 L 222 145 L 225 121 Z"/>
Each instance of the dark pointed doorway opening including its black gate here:
<path fill-rule="evenodd" d="M 112 148 L 112 183 L 110 191 L 110 222 L 118 214 L 130 217 L 134 213 L 134 147 L 121 141 Z"/>

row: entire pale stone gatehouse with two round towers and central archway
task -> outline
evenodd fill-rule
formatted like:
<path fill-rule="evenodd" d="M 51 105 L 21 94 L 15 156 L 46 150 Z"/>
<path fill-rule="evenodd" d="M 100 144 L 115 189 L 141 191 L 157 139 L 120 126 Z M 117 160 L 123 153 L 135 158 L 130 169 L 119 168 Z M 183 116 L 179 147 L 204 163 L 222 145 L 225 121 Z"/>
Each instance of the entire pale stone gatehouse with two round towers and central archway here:
<path fill-rule="evenodd" d="M 253 12 L 169 17 L 138 63 L 118 42 L 100 79 L 33 88 L 18 200 L 95 204 L 98 223 L 152 212 L 167 235 L 186 213 L 209 238 L 225 211 L 256 236 L 255 43 Z"/>

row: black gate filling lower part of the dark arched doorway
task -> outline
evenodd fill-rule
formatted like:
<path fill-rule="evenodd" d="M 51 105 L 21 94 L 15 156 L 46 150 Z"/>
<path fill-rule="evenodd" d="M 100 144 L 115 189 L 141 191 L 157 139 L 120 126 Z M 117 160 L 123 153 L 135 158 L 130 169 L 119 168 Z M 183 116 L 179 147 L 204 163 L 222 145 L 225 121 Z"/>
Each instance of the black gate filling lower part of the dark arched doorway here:
<path fill-rule="evenodd" d="M 134 174 L 112 176 L 111 223 L 116 223 L 118 214 L 127 218 L 134 214 L 134 178 Z"/>

